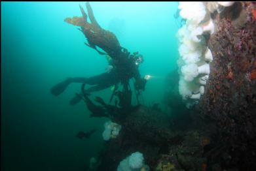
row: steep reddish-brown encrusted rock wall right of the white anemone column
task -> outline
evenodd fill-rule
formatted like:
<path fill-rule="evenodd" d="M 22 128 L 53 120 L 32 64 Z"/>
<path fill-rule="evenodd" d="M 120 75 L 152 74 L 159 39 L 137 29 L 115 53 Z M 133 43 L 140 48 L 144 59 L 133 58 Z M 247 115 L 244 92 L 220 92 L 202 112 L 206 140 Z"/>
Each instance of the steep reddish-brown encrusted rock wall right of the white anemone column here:
<path fill-rule="evenodd" d="M 256 168 L 256 4 L 236 2 L 215 12 L 217 31 L 208 47 L 211 74 L 198 109 L 219 128 L 225 151 L 222 169 Z"/>

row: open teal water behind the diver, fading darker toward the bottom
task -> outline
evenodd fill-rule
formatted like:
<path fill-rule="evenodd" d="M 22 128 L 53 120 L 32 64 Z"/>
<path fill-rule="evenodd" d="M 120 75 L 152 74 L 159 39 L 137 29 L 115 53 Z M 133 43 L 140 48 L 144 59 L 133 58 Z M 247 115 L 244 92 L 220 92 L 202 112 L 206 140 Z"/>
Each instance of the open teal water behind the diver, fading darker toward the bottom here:
<path fill-rule="evenodd" d="M 64 22 L 81 16 L 84 3 L 1 3 L 1 169 L 82 170 L 103 147 L 104 118 L 90 118 L 71 84 L 59 97 L 50 87 L 70 76 L 104 72 L 107 61 L 84 45 L 81 31 Z M 144 57 L 141 75 L 155 76 L 143 93 L 146 103 L 161 102 L 164 77 L 177 60 L 177 3 L 92 2 L 98 23 L 113 31 L 121 46 Z M 110 89 L 100 95 L 108 101 Z M 99 129 L 90 139 L 79 131 Z"/>

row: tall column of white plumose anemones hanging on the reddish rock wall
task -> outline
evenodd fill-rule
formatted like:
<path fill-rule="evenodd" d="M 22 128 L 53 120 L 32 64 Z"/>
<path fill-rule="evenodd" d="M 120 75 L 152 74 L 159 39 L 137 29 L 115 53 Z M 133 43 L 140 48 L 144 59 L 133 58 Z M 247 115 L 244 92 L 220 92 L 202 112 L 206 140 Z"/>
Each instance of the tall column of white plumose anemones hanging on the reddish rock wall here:
<path fill-rule="evenodd" d="M 177 32 L 179 39 L 179 94 L 187 102 L 187 108 L 196 104 L 204 94 L 204 86 L 210 75 L 213 60 L 203 35 L 212 35 L 215 25 L 211 12 L 221 12 L 234 2 L 180 2 L 179 15 L 186 20 Z"/>

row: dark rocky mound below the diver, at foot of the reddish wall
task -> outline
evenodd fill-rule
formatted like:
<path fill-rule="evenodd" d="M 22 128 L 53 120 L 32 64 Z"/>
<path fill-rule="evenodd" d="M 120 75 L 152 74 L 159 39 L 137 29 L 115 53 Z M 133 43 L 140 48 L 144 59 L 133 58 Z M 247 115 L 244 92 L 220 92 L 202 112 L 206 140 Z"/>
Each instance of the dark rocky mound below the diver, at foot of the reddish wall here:
<path fill-rule="evenodd" d="M 212 145 L 213 131 L 198 129 L 203 125 L 194 127 L 191 123 L 196 119 L 190 116 L 196 114 L 190 115 L 184 108 L 176 110 L 175 116 L 145 106 L 129 114 L 119 136 L 106 142 L 98 170 L 116 170 L 120 161 L 134 151 L 143 153 L 151 170 L 200 170 L 207 161 L 204 152 Z"/>

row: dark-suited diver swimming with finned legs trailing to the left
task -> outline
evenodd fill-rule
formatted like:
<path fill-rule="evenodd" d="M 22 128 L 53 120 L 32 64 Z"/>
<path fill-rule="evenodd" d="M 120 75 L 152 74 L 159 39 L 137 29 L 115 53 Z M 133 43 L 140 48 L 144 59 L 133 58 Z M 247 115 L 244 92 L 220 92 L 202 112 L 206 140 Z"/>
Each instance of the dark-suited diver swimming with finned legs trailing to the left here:
<path fill-rule="evenodd" d="M 132 57 L 121 57 L 118 60 L 113 60 L 114 68 L 109 72 L 99 74 L 97 76 L 92 76 L 89 78 L 67 78 L 64 82 L 60 82 L 57 85 L 54 85 L 50 89 L 52 95 L 60 95 L 66 87 L 72 82 L 76 83 L 85 83 L 88 85 L 94 85 L 85 90 L 85 93 L 90 93 L 93 91 L 100 91 L 101 89 L 106 89 L 111 87 L 111 85 L 117 85 L 119 82 L 128 82 L 130 78 L 135 78 L 136 88 L 145 89 L 146 80 L 140 78 L 138 66 L 136 65 Z M 117 67 L 115 67 L 117 66 Z M 81 99 L 76 96 L 71 99 L 70 104 L 75 105 Z"/>

